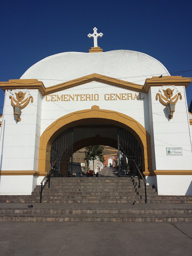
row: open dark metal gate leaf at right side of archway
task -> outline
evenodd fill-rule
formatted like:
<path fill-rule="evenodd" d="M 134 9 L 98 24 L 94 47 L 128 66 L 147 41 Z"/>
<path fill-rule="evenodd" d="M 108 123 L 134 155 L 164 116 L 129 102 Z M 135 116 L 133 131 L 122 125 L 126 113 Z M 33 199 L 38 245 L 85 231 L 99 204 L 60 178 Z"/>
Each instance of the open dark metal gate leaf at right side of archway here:
<path fill-rule="evenodd" d="M 137 176 L 138 166 L 140 172 L 141 165 L 141 149 L 136 138 L 127 130 L 118 129 L 118 175 L 119 176 Z M 134 161 L 135 162 L 134 162 Z M 135 165 L 136 163 L 136 165 Z"/>

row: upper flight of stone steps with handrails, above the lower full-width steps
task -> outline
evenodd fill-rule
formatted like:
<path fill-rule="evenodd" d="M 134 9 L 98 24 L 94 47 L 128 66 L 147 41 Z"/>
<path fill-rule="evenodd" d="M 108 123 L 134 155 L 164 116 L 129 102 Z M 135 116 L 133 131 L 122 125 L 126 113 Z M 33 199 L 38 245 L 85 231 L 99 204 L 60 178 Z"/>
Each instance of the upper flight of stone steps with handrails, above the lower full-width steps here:
<path fill-rule="evenodd" d="M 148 203 L 192 203 L 192 196 L 158 195 L 146 186 Z M 145 202 L 144 182 L 137 177 L 52 177 L 45 185 L 44 203 L 137 203 Z M 40 185 L 31 195 L 0 195 L 0 202 L 34 203 L 40 201 Z"/>

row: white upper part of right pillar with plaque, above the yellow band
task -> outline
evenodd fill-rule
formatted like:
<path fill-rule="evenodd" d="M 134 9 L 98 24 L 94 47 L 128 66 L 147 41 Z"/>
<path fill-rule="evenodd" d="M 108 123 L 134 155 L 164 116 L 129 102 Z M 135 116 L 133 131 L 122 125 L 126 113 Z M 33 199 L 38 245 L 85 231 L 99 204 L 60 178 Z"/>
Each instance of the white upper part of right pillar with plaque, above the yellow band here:
<path fill-rule="evenodd" d="M 175 104 L 173 118 L 155 95 L 160 87 L 149 90 L 150 136 L 153 170 L 191 170 L 192 151 L 185 89 L 178 86 L 182 99 Z M 182 147 L 182 155 L 166 155 L 166 147 Z"/>

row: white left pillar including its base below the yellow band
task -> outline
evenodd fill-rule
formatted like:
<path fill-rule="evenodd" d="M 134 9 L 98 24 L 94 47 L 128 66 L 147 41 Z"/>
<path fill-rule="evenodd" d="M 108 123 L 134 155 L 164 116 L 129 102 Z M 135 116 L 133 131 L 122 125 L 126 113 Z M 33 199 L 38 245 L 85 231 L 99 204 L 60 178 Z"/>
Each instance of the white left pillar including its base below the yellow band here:
<path fill-rule="evenodd" d="M 20 89 L 24 91 L 23 89 Z M 0 170 L 2 171 L 37 171 L 38 148 L 41 123 L 41 94 L 37 89 L 30 90 L 33 102 L 21 109 L 21 121 L 17 122 L 13 115 L 9 95 L 19 89 L 5 92 L 4 114 L 0 137 Z M 25 91 L 27 91 L 25 89 Z M 33 175 L 1 175 L 1 194 L 28 194 L 37 183 Z M 8 183 L 7 184 L 7 178 Z M 26 188 L 26 189 L 25 189 Z"/>

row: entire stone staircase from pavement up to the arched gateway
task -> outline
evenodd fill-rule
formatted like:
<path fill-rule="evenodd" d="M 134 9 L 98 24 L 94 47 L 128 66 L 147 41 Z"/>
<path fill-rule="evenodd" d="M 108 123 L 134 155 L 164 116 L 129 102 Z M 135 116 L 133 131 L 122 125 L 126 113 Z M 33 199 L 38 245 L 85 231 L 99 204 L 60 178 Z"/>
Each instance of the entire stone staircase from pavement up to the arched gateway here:
<path fill-rule="evenodd" d="M 0 221 L 192 221 L 192 196 L 146 191 L 144 203 L 137 177 L 52 177 L 42 203 L 39 185 L 31 195 L 0 195 Z"/>

